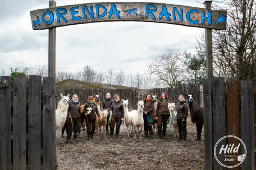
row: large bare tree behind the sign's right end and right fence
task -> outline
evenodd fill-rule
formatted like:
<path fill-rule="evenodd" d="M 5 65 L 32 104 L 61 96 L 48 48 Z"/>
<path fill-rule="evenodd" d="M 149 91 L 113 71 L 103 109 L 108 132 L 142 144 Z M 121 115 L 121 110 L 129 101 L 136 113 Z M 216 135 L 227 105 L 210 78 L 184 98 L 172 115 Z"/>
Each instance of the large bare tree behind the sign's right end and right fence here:
<path fill-rule="evenodd" d="M 226 31 L 214 31 L 213 62 L 219 76 L 256 78 L 255 0 L 223 0 L 214 9 L 227 10 Z"/>

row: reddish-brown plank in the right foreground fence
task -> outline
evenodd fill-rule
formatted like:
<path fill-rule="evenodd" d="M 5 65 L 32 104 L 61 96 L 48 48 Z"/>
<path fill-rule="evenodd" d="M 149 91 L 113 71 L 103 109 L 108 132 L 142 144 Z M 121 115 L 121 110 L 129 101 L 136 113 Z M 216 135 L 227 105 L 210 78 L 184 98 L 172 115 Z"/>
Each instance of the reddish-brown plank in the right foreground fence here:
<path fill-rule="evenodd" d="M 240 138 L 240 123 L 239 123 L 239 81 L 238 79 L 227 79 L 227 135 L 233 135 Z M 228 138 L 228 144 L 238 146 L 239 141 L 234 138 Z M 232 153 L 230 155 L 239 155 Z M 228 166 L 234 166 L 239 162 L 230 161 Z M 231 170 L 239 170 L 239 166 L 231 168 Z"/>

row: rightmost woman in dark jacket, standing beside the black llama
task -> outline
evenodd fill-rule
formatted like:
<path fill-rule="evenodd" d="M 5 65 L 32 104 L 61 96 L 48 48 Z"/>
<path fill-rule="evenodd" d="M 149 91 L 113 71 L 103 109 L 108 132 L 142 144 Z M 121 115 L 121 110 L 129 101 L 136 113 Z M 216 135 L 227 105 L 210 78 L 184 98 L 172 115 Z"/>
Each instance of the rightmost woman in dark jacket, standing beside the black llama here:
<path fill-rule="evenodd" d="M 186 100 L 182 95 L 179 96 L 179 101 L 177 104 L 177 125 L 179 129 L 179 139 L 186 141 L 186 118 L 188 116 L 189 112 L 189 106 Z"/>

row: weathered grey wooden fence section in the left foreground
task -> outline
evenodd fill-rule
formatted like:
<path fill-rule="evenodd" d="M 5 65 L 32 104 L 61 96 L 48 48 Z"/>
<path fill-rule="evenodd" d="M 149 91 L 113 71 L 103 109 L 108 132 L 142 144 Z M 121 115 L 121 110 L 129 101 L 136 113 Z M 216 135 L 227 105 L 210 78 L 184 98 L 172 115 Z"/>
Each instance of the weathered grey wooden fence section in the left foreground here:
<path fill-rule="evenodd" d="M 55 78 L 0 80 L 0 169 L 55 169 Z"/>

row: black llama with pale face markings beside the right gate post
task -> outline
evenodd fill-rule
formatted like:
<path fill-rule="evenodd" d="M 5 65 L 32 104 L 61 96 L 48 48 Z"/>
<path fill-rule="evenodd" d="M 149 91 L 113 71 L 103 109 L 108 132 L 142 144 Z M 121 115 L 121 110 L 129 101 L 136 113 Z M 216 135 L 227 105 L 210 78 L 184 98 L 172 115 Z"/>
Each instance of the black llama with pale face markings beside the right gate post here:
<path fill-rule="evenodd" d="M 195 107 L 195 104 L 193 102 L 193 97 L 192 97 L 193 94 L 189 94 L 189 95 L 185 94 L 185 95 L 188 97 L 191 121 L 196 125 L 196 131 L 198 136 L 195 140 L 201 141 L 201 132 L 204 125 L 204 109 Z"/>

